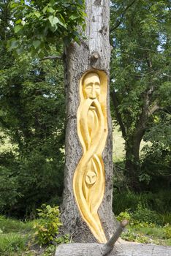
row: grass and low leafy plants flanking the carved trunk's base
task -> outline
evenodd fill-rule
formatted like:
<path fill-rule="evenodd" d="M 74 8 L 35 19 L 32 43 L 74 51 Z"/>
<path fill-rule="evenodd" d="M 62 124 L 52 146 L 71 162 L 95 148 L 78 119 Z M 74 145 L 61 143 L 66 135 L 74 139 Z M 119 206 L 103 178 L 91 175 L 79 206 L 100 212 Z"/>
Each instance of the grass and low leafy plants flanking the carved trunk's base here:
<path fill-rule="evenodd" d="M 0 216 L 1 256 L 51 256 L 58 244 L 69 243 L 69 235 L 56 236 L 61 228 L 58 207 L 42 206 L 39 219 L 22 222 Z M 138 204 L 118 214 L 118 221 L 129 220 L 122 234 L 126 241 L 153 243 L 171 246 L 171 225 L 159 217 L 155 211 Z M 170 218 L 168 218 L 170 219 Z"/>

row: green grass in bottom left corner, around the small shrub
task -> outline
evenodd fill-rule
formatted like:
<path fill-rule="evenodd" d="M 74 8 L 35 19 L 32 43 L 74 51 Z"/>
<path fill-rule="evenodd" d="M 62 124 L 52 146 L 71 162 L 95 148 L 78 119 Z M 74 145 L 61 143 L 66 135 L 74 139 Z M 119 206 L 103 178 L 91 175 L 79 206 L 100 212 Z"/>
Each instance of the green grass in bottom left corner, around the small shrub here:
<path fill-rule="evenodd" d="M 52 209 L 54 211 L 55 208 Z M 58 211 L 58 208 L 56 210 Z M 49 212 L 50 210 L 48 210 Z M 34 236 L 34 226 L 37 223 L 39 224 L 39 219 L 34 219 L 34 221 L 25 220 L 22 222 L 0 215 L 0 255 L 36 256 L 41 254 L 42 256 L 50 256 L 55 253 L 56 244 L 69 242 L 69 236 L 64 235 L 54 238 L 54 244 L 38 246 Z"/>

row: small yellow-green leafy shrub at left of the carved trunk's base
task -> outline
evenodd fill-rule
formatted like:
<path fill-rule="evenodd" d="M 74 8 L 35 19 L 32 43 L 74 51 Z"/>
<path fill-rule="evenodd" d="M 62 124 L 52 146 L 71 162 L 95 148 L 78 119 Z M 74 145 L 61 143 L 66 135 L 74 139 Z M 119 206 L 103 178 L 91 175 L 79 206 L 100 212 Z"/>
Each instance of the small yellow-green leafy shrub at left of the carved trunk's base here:
<path fill-rule="evenodd" d="M 59 227 L 62 225 L 59 219 L 59 209 L 58 206 L 51 207 L 44 204 L 38 211 L 40 219 L 34 226 L 36 229 L 34 236 L 39 244 L 49 244 L 51 241 L 54 241 Z"/>

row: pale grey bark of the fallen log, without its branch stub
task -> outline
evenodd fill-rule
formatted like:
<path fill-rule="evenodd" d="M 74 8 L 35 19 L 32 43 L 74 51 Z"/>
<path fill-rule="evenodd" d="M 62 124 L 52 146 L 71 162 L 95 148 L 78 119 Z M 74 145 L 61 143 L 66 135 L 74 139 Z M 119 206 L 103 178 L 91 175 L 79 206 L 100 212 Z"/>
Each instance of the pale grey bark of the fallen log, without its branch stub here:
<path fill-rule="evenodd" d="M 56 256 L 104 256 L 102 244 L 62 244 L 56 250 Z M 154 244 L 136 244 L 121 242 L 114 246 L 107 256 L 170 256 L 171 246 Z"/>

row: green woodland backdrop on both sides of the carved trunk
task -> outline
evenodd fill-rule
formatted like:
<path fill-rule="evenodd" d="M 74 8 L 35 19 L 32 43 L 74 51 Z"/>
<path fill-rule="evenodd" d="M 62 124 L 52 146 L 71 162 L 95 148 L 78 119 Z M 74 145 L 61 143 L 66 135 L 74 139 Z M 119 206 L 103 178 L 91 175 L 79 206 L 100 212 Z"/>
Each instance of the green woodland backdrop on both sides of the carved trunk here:
<path fill-rule="evenodd" d="M 113 211 L 162 227 L 171 222 L 170 4 L 116 0 L 110 15 Z M 84 17 L 83 1 L 0 2 L 0 214 L 6 217 L 35 219 L 42 203 L 61 203 L 64 46 L 83 38 L 76 28 Z"/>

